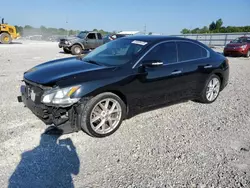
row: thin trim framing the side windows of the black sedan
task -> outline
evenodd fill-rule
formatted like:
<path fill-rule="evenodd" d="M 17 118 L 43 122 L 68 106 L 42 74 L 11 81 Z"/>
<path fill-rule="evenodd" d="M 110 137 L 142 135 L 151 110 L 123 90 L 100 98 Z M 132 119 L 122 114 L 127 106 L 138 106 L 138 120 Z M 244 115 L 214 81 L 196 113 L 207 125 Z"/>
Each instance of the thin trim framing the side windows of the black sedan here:
<path fill-rule="evenodd" d="M 152 51 L 156 46 L 160 45 L 160 44 L 164 44 L 164 43 L 167 43 L 167 42 L 175 42 L 176 44 L 176 51 L 177 51 L 177 62 L 175 63 L 171 63 L 171 65 L 173 64 L 178 64 L 178 63 L 185 63 L 185 62 L 189 62 L 189 61 L 195 61 L 195 60 L 201 60 L 201 59 L 207 59 L 207 58 L 210 58 L 210 51 L 208 51 L 205 47 L 203 47 L 202 45 L 200 44 L 197 44 L 196 42 L 193 42 L 193 41 L 187 41 L 187 40 L 168 40 L 168 41 L 162 41 L 162 42 L 159 42 L 157 44 L 155 44 L 154 46 L 152 46 L 147 52 L 145 52 L 145 54 L 143 56 L 140 57 L 140 59 L 138 59 L 135 64 L 133 65 L 132 69 L 134 69 L 140 62 L 141 60 L 150 52 Z M 207 57 L 201 57 L 201 58 L 196 58 L 196 59 L 189 59 L 189 60 L 185 60 L 185 61 L 179 61 L 179 50 L 178 50 L 178 46 L 177 46 L 177 42 L 189 42 L 189 43 L 192 43 L 192 44 L 196 44 L 198 46 L 200 46 L 201 48 L 205 49 L 207 51 Z M 170 64 L 166 64 L 166 65 L 170 65 Z M 165 65 L 164 65 L 165 66 Z"/>

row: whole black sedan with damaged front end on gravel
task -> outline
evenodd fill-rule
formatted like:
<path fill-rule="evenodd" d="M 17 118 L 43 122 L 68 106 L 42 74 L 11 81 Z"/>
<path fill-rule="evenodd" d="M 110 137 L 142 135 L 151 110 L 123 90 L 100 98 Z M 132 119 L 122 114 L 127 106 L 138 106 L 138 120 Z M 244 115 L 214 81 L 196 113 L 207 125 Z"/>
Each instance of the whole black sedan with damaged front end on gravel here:
<path fill-rule="evenodd" d="M 18 100 L 61 134 L 104 137 L 142 112 L 187 100 L 212 103 L 228 77 L 227 58 L 198 41 L 132 36 L 31 68 Z"/>

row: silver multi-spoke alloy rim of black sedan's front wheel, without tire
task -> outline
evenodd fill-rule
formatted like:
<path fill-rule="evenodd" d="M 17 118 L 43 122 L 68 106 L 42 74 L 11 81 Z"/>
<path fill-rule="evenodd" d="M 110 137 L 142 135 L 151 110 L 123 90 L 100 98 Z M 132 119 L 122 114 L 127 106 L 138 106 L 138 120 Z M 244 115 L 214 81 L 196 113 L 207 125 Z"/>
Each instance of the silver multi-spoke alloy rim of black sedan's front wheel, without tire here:
<path fill-rule="evenodd" d="M 121 121 L 122 108 L 115 99 L 107 98 L 98 102 L 90 113 L 90 125 L 98 134 L 113 131 Z"/>

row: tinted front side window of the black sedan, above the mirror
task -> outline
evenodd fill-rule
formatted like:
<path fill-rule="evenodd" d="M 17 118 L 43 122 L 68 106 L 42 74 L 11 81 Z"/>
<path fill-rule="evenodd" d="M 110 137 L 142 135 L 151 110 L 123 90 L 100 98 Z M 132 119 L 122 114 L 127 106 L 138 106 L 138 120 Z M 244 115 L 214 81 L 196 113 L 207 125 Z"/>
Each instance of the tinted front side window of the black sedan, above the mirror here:
<path fill-rule="evenodd" d="M 177 50 L 175 42 L 166 42 L 154 47 L 144 60 L 162 61 L 164 64 L 177 62 Z"/>

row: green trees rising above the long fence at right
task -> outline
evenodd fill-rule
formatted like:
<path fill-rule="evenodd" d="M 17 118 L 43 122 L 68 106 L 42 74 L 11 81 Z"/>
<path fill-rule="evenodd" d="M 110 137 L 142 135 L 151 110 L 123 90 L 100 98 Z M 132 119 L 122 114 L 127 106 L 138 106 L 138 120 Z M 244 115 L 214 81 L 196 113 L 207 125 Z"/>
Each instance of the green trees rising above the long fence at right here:
<path fill-rule="evenodd" d="M 234 32 L 250 32 L 250 26 L 223 26 L 222 19 L 218 19 L 216 22 L 212 22 L 209 26 L 204 26 L 203 28 L 195 29 L 182 29 L 182 34 L 197 34 L 197 33 L 234 33 Z"/>

